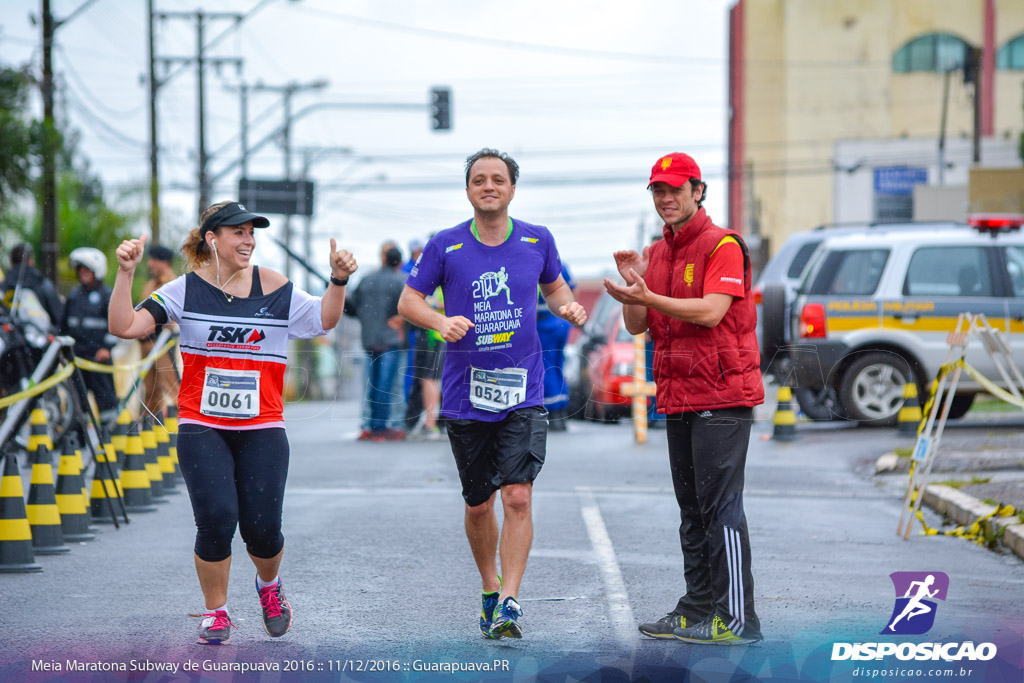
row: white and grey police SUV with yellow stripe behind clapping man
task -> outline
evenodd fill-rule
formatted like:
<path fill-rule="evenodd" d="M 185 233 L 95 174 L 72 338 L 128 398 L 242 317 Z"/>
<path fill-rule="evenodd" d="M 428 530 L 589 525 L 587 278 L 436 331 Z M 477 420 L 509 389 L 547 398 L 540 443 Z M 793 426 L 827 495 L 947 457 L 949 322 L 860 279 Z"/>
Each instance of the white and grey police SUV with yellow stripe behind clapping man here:
<path fill-rule="evenodd" d="M 833 393 L 837 418 L 891 425 L 907 381 L 918 383 L 923 401 L 927 397 L 959 313 L 984 313 L 1012 349 L 1024 347 L 1022 217 L 970 222 L 825 240 L 791 312 L 791 377 L 797 385 Z M 1015 357 L 1019 362 L 1024 353 L 1018 350 Z M 1001 384 L 979 340 L 971 342 L 967 361 Z M 980 391 L 963 375 L 949 417 L 963 417 Z"/>

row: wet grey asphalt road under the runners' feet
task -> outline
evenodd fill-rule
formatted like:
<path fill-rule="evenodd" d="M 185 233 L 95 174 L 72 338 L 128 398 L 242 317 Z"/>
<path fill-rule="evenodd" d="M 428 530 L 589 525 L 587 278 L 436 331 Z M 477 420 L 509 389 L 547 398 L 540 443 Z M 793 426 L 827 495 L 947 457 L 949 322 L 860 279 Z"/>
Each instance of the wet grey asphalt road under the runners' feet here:
<path fill-rule="evenodd" d="M 998 645 L 984 678 L 956 680 L 1020 680 L 1024 563 L 958 539 L 897 538 L 902 490 L 871 476 L 878 455 L 905 445 L 889 430 L 815 425 L 779 443 L 765 440 L 770 423 L 755 425 L 745 509 L 766 640 L 716 648 L 636 631 L 684 590 L 665 432 L 638 445 L 628 423 L 573 422 L 549 436 L 535 486 L 535 542 L 519 596 L 525 637 L 487 641 L 477 629 L 479 578 L 446 440 L 357 442 L 357 412 L 352 402 L 286 410 L 282 577 L 295 610 L 286 637 L 263 632 L 255 572 L 236 538 L 232 644 L 195 644 L 199 620 L 187 614 L 203 602 L 190 508 L 178 495 L 63 556 L 38 557 L 41 573 L 0 574 L 0 680 L 229 680 L 210 669 L 274 665 L 280 673 L 243 678 L 582 680 L 600 670 L 607 680 L 688 673 L 725 681 L 743 672 L 853 680 L 863 663 L 831 661 L 833 643 L 885 640 L 878 634 L 893 609 L 889 574 L 899 570 L 943 571 L 950 581 L 935 626 L 914 640 Z M 70 676 L 69 659 L 178 669 Z M 421 671 L 495 660 L 493 673 Z M 353 671 L 359 661 L 374 664 Z M 61 670 L 41 670 L 46 663 Z M 197 671 L 183 672 L 185 664 Z"/>

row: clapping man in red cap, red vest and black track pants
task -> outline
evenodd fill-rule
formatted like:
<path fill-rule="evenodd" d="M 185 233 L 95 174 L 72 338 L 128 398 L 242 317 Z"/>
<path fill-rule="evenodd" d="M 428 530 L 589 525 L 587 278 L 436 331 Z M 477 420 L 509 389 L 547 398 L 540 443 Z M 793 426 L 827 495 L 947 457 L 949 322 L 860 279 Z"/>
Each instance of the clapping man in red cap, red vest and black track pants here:
<path fill-rule="evenodd" d="M 626 286 L 605 280 L 604 287 L 624 304 L 626 328 L 650 330 L 654 340 L 686 594 L 640 632 L 692 643 L 755 642 L 761 625 L 742 495 L 753 411 L 764 386 L 751 259 L 739 234 L 705 213 L 707 184 L 693 159 L 658 159 L 647 187 L 665 237 L 642 256 L 615 252 Z"/>

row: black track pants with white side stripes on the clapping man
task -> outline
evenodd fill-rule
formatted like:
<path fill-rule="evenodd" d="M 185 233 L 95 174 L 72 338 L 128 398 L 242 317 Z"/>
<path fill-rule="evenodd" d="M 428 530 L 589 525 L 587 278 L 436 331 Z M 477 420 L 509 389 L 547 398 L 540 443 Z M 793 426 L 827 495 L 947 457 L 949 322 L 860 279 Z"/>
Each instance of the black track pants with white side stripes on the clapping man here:
<path fill-rule="evenodd" d="M 757 636 L 743 467 L 754 411 L 728 408 L 670 415 L 669 462 L 682 523 L 686 595 L 676 614 L 718 614 L 736 635 Z"/>

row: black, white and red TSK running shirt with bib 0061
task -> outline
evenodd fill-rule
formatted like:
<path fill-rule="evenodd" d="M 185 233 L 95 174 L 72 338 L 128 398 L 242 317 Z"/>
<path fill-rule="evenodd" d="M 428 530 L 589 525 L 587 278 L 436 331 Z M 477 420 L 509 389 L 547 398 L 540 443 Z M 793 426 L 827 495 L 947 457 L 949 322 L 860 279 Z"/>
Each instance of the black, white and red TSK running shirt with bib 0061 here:
<path fill-rule="evenodd" d="M 195 272 L 167 283 L 137 308 L 181 329 L 178 422 L 219 429 L 284 427 L 288 341 L 327 334 L 321 299 L 291 282 L 231 299 Z"/>

